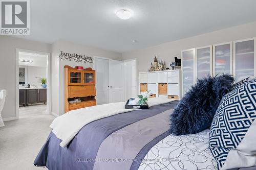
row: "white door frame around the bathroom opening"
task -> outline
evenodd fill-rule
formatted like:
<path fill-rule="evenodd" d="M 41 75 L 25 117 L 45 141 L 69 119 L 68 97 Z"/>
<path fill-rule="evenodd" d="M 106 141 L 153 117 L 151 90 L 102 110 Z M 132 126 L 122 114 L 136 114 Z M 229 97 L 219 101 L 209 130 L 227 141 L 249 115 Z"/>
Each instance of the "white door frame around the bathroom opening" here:
<path fill-rule="evenodd" d="M 46 69 L 46 79 L 47 79 L 47 113 L 51 114 L 51 54 L 45 53 L 45 52 L 38 52 L 38 51 L 32 51 L 32 50 L 24 50 L 20 48 L 16 48 L 16 59 L 15 59 L 15 66 L 16 66 L 16 119 L 19 118 L 19 52 L 25 52 L 25 53 L 36 53 L 41 55 L 47 56 L 47 69 Z"/>

